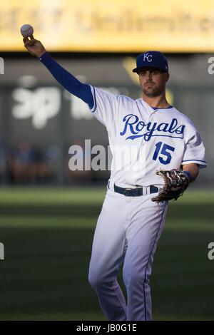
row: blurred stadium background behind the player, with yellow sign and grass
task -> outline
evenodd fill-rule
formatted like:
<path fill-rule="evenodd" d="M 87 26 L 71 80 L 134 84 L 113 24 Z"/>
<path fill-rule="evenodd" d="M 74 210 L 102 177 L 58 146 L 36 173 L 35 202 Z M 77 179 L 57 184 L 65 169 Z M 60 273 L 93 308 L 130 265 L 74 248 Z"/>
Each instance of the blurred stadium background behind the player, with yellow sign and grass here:
<path fill-rule="evenodd" d="M 109 171 L 71 172 L 68 149 L 86 139 L 107 148 L 108 136 L 25 51 L 19 29 L 31 24 L 81 81 L 132 98 L 138 53 L 168 57 L 168 99 L 198 128 L 208 168 L 170 205 L 151 277 L 154 319 L 213 320 L 213 1 L 1 0 L 0 18 L 0 319 L 105 319 L 87 272 Z"/>

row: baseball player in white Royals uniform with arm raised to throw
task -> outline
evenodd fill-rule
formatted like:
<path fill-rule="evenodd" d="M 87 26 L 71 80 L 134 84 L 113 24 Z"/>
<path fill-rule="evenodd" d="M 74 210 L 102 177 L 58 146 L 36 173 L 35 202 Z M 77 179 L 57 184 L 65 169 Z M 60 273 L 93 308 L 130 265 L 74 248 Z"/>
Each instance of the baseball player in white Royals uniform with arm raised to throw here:
<path fill-rule="evenodd" d="M 158 51 L 138 56 L 133 72 L 139 76 L 142 95 L 133 100 L 81 83 L 34 36 L 24 38 L 24 46 L 66 90 L 88 104 L 106 126 L 111 148 L 126 145 L 135 153 L 130 169 L 119 158 L 121 168 L 111 171 L 93 237 L 88 279 L 109 320 L 151 320 L 149 276 L 168 200 L 182 195 L 206 166 L 195 126 L 165 98 L 168 61 Z M 112 151 L 114 167 L 118 155 Z M 127 301 L 117 280 L 122 263 Z"/>

